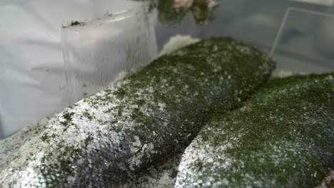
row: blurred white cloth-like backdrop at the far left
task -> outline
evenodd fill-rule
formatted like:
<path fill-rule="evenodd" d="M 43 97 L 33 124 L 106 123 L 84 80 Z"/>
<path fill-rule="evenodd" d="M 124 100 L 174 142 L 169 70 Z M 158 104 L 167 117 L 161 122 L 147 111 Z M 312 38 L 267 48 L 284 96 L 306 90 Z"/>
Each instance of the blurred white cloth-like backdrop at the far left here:
<path fill-rule="evenodd" d="M 0 140 L 65 108 L 59 28 L 132 9 L 124 0 L 0 0 Z"/>

